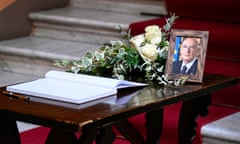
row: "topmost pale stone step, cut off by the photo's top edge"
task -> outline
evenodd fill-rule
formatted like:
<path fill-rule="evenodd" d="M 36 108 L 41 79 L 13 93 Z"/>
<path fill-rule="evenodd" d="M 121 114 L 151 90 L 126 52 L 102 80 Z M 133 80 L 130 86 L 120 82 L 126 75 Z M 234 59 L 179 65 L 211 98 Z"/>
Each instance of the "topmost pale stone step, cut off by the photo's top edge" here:
<path fill-rule="evenodd" d="M 167 14 L 164 0 L 71 0 L 70 5 L 129 14 Z"/>

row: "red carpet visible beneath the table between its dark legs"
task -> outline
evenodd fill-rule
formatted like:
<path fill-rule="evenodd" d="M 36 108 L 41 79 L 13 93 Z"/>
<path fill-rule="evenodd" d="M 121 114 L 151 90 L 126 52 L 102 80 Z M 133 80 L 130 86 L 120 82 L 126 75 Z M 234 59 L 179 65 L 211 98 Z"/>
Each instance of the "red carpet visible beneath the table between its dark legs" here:
<path fill-rule="evenodd" d="M 164 109 L 164 126 L 163 133 L 161 137 L 161 144 L 177 144 L 177 121 L 179 115 L 179 109 L 181 107 L 181 103 L 173 104 L 165 107 Z M 201 144 L 200 139 L 200 127 L 208 122 L 219 119 L 223 116 L 227 116 L 234 112 L 237 112 L 238 109 L 234 108 L 226 108 L 220 107 L 216 105 L 209 106 L 209 115 L 202 118 L 199 117 L 198 127 L 197 127 L 197 135 L 194 140 L 194 144 Z M 144 129 L 144 114 L 140 114 L 130 118 L 130 121 L 141 131 L 143 135 L 145 135 Z M 44 144 L 47 134 L 49 132 L 49 128 L 47 127 L 39 127 L 29 131 L 25 131 L 21 133 L 20 138 L 22 144 Z M 130 144 L 126 140 L 117 139 L 114 144 Z"/>

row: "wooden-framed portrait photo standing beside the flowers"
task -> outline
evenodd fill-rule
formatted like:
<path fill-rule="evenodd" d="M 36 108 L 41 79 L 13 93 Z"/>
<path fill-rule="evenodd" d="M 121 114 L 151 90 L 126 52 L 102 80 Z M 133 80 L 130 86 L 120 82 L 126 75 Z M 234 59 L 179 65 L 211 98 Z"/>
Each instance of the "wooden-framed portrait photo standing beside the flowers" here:
<path fill-rule="evenodd" d="M 169 80 L 185 76 L 189 82 L 202 82 L 208 35 L 208 31 L 180 29 L 171 31 L 165 71 Z"/>

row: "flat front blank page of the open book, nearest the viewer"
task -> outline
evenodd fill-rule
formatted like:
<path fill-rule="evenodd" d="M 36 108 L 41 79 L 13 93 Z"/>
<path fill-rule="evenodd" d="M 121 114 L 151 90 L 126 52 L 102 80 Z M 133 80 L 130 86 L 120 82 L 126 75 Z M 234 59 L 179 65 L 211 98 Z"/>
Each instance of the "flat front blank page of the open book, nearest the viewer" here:
<path fill-rule="evenodd" d="M 115 89 L 48 78 L 8 86 L 7 90 L 75 104 L 85 103 L 117 93 Z"/>

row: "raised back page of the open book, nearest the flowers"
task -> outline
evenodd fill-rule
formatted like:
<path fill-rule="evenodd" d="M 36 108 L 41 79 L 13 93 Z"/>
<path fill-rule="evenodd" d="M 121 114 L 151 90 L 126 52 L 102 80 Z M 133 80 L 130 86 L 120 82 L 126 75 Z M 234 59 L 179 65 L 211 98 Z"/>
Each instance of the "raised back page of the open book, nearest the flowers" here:
<path fill-rule="evenodd" d="M 45 75 L 46 78 L 61 79 L 64 81 L 71 81 L 77 83 L 85 83 L 89 85 L 95 85 L 100 87 L 107 87 L 111 89 L 132 87 L 132 86 L 146 86 L 144 83 L 137 83 L 125 80 L 117 80 L 112 78 L 105 78 L 100 76 L 91 76 L 85 74 L 74 74 L 70 72 L 62 71 L 49 71 Z"/>

